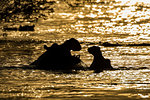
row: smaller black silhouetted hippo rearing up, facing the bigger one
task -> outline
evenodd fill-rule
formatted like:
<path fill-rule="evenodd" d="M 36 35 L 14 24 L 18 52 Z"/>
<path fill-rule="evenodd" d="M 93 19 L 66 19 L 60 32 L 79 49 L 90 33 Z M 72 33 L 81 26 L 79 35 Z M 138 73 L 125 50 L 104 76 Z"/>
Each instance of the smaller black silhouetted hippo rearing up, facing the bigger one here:
<path fill-rule="evenodd" d="M 102 72 L 103 70 L 113 69 L 110 60 L 103 57 L 100 47 L 90 47 L 88 48 L 88 52 L 94 56 L 93 62 L 90 65 L 90 69 L 94 70 L 95 73 Z"/>

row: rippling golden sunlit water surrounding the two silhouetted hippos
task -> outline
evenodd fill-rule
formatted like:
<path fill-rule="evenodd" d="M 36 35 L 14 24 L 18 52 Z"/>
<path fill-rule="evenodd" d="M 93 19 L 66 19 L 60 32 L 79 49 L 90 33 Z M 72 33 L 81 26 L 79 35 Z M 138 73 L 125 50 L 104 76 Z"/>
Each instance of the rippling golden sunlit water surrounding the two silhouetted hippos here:
<path fill-rule="evenodd" d="M 79 7 L 59 1 L 52 5 L 54 13 L 41 11 L 46 15 L 44 19 L 0 23 L 0 99 L 150 98 L 150 47 L 100 45 L 100 42 L 149 44 L 150 3 L 147 0 L 95 1 L 81 1 Z M 35 31 L 2 30 L 3 26 L 20 24 L 35 24 Z M 93 71 L 61 73 L 18 68 L 37 59 L 45 51 L 43 45 L 61 44 L 69 38 L 80 41 L 82 50 L 72 53 L 80 54 L 88 66 L 93 57 L 87 48 L 97 45 L 114 68 L 147 69 L 94 74 Z M 12 66 L 16 68 L 7 68 Z"/>

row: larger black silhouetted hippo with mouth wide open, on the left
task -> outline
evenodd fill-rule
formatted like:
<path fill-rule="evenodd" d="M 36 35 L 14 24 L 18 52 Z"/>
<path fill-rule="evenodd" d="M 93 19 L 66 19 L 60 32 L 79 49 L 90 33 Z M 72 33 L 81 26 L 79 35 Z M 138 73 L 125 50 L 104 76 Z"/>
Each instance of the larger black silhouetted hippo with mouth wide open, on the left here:
<path fill-rule="evenodd" d="M 47 51 L 31 63 L 39 69 L 71 70 L 75 69 L 75 65 L 81 62 L 79 56 L 71 55 L 71 50 L 81 50 L 80 43 L 74 38 L 65 41 L 61 45 L 57 43 L 54 43 L 51 47 L 44 45 L 44 48 Z"/>

